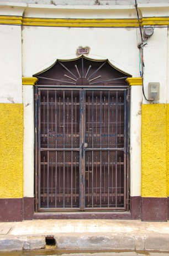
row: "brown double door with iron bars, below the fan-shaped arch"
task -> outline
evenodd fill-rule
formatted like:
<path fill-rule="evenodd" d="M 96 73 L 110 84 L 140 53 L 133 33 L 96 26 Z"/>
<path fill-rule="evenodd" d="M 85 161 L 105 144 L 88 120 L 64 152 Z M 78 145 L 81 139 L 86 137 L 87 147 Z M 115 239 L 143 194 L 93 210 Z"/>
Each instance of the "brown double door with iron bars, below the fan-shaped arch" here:
<path fill-rule="evenodd" d="M 39 210 L 125 210 L 126 89 L 37 89 Z"/>

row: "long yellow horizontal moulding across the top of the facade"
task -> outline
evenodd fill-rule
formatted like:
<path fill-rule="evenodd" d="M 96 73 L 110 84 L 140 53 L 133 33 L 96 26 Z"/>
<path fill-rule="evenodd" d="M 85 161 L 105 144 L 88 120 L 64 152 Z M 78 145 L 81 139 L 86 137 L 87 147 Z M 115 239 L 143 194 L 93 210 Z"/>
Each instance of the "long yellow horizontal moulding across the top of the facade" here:
<path fill-rule="evenodd" d="M 147 17 L 140 19 L 141 26 L 167 26 L 169 17 Z M 0 24 L 42 27 L 138 27 L 137 19 L 57 19 L 0 16 Z"/>

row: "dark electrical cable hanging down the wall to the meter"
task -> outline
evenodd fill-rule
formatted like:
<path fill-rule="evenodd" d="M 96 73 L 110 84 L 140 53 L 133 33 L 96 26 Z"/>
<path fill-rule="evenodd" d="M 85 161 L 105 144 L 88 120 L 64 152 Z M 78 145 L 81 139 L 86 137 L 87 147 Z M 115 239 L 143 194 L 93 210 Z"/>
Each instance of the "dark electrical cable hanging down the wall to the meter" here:
<path fill-rule="evenodd" d="M 141 36 L 141 44 L 138 44 L 138 48 L 139 48 L 139 71 L 140 71 L 140 77 L 142 78 L 142 94 L 145 98 L 145 100 L 147 102 L 154 102 L 154 99 L 147 99 L 145 96 L 145 92 L 144 92 L 144 54 L 143 54 L 143 47 L 147 44 L 147 39 L 143 39 L 142 38 L 142 30 L 141 30 L 141 23 L 140 23 L 140 19 L 139 19 L 139 12 L 138 12 L 138 4 L 137 1 L 135 0 L 135 8 L 136 8 L 136 14 L 138 17 L 138 22 L 139 22 L 139 29 L 140 29 L 140 36 Z M 140 70 L 140 66 L 141 66 L 141 70 Z"/>

